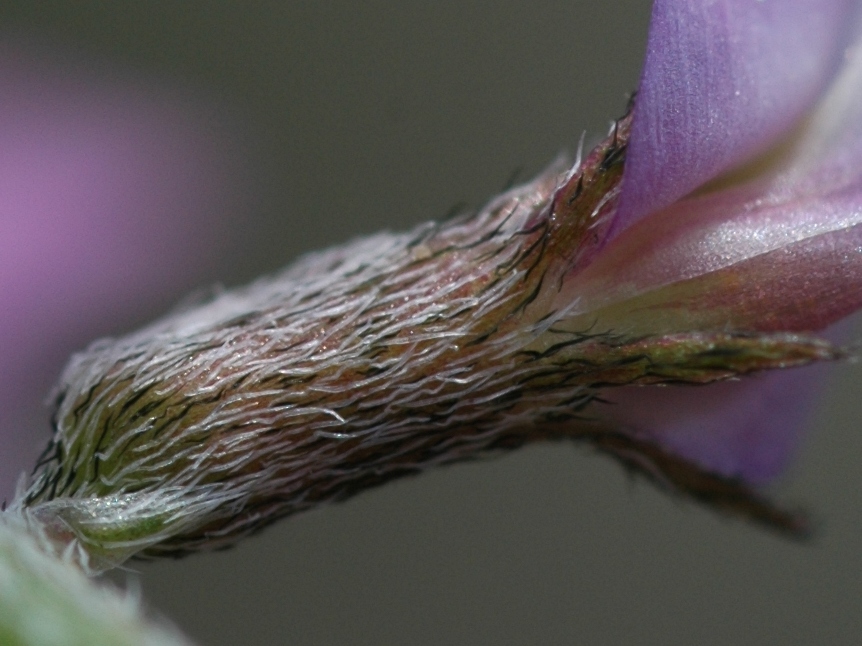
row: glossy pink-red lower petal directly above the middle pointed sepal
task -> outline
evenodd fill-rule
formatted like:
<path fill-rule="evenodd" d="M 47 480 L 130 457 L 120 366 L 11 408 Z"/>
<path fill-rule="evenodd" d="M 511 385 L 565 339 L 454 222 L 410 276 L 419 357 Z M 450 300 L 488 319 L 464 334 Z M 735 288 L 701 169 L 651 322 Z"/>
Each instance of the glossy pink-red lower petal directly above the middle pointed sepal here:
<path fill-rule="evenodd" d="M 633 335 L 814 331 L 862 307 L 860 249 L 862 186 L 779 205 L 717 193 L 630 228 L 559 301 Z"/>

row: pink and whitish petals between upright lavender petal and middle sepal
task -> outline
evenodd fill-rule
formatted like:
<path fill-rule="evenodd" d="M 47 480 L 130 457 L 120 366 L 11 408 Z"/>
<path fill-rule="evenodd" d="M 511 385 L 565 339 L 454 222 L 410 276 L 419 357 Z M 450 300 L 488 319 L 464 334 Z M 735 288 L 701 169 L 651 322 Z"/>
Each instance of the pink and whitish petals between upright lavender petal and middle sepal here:
<path fill-rule="evenodd" d="M 862 305 L 860 106 L 857 42 L 780 146 L 631 224 L 558 304 L 632 333 L 811 331 L 848 315 Z"/>

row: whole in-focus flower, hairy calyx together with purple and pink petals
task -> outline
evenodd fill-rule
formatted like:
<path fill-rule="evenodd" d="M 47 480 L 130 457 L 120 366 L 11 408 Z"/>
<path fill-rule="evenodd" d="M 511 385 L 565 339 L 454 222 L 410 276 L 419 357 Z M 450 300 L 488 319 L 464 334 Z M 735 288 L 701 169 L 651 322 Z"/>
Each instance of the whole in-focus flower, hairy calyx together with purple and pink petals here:
<path fill-rule="evenodd" d="M 857 14 L 658 0 L 633 113 L 583 163 L 73 357 L 21 504 L 103 567 L 571 438 L 799 529 L 750 486 L 810 384 L 749 375 L 843 356 L 812 333 L 862 305 Z"/>

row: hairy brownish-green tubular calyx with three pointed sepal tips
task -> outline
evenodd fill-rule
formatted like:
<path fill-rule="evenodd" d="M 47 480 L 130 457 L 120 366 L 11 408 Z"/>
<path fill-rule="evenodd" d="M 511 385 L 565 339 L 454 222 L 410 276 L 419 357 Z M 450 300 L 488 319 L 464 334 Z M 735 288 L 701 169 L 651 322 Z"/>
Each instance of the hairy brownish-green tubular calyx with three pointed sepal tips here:
<path fill-rule="evenodd" d="M 741 485 L 590 414 L 605 387 L 704 384 L 838 354 L 797 334 L 633 336 L 560 306 L 601 250 L 629 125 L 575 169 L 478 213 L 309 255 L 93 344 L 63 375 L 54 436 L 18 506 L 98 570 L 224 546 L 399 475 L 567 437 L 796 529 Z"/>

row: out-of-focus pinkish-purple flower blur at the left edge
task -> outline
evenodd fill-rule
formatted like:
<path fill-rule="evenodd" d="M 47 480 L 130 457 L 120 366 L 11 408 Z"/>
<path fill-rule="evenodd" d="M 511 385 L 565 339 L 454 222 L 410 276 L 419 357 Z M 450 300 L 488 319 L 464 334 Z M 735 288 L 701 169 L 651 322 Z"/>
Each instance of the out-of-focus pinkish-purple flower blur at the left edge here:
<path fill-rule="evenodd" d="M 195 286 L 236 187 L 211 110 L 87 65 L 0 45 L 0 499 L 70 352 Z"/>

